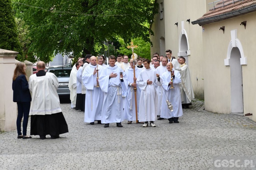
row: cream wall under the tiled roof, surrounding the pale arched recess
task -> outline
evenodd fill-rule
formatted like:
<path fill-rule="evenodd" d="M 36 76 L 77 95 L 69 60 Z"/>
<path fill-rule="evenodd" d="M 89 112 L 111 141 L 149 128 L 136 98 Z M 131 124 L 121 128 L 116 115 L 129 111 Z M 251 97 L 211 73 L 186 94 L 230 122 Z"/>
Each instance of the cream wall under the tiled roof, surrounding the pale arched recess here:
<path fill-rule="evenodd" d="M 255 18 L 256 12 L 204 26 L 204 99 L 207 111 L 231 113 L 230 67 L 224 66 L 224 59 L 231 41 L 230 31 L 237 29 L 237 38 L 247 57 L 247 65 L 242 65 L 244 114 L 252 113 L 249 118 L 256 121 Z M 247 21 L 246 29 L 240 26 L 242 21 Z M 225 26 L 224 34 L 219 30 L 222 26 Z"/>

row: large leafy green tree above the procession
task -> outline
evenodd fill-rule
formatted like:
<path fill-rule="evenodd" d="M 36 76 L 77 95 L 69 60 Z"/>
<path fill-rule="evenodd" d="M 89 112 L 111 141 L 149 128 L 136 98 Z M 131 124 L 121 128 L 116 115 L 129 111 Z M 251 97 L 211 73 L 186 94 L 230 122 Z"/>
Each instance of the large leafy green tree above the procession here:
<path fill-rule="evenodd" d="M 134 37 L 150 42 L 146 23 L 153 20 L 158 6 L 155 0 L 13 0 L 13 4 L 17 16 L 29 25 L 28 52 L 45 62 L 55 50 L 72 52 L 75 58 L 95 55 L 99 44 L 117 36 L 126 43 Z"/>

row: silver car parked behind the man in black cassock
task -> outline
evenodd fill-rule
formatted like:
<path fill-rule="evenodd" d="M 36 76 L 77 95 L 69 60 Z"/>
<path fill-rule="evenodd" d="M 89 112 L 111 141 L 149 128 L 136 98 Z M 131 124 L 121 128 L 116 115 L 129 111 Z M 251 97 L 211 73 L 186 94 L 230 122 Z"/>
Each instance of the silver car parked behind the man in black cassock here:
<path fill-rule="evenodd" d="M 54 73 L 59 81 L 59 87 L 57 93 L 61 95 L 70 95 L 69 90 L 69 77 L 72 67 L 51 67 L 48 68 L 46 72 Z"/>

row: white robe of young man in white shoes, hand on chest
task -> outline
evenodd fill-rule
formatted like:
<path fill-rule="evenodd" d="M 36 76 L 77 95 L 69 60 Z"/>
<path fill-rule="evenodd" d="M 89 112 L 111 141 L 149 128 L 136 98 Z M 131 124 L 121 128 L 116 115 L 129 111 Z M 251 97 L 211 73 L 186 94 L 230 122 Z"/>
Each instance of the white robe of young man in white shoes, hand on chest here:
<path fill-rule="evenodd" d="M 151 85 L 147 84 L 147 80 L 152 81 Z M 157 94 L 155 89 L 156 70 L 152 68 L 144 69 L 140 72 L 137 84 L 141 89 L 140 93 L 140 122 L 155 121 L 157 113 Z"/>

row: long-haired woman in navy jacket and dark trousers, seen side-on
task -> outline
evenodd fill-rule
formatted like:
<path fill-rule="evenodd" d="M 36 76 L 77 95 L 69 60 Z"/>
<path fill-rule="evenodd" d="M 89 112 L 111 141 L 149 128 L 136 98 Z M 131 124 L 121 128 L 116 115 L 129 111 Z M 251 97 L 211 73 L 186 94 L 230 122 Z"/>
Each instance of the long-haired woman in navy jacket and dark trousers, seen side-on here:
<path fill-rule="evenodd" d="M 17 117 L 17 132 L 18 139 L 29 139 L 31 136 L 27 135 L 28 116 L 31 102 L 31 95 L 28 88 L 28 80 L 26 76 L 25 63 L 18 63 L 13 75 L 12 89 L 13 102 L 17 102 L 18 117 Z M 23 135 L 21 133 L 21 121 L 23 117 Z"/>

